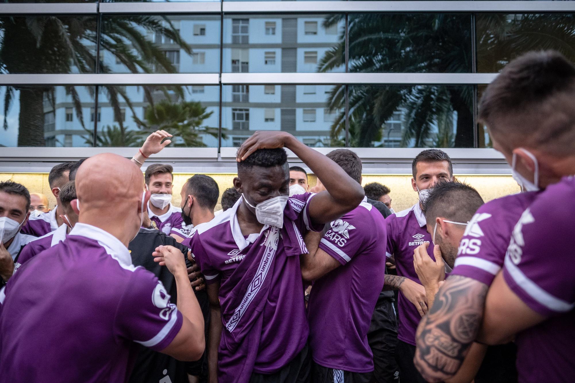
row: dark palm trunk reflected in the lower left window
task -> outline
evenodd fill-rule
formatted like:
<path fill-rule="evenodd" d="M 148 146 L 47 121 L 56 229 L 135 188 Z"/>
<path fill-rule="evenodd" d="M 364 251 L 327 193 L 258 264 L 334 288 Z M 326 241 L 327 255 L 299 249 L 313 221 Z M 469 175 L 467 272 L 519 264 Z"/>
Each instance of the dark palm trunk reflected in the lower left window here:
<path fill-rule="evenodd" d="M 18 146 L 46 146 L 43 88 L 20 88 L 18 129 Z"/>

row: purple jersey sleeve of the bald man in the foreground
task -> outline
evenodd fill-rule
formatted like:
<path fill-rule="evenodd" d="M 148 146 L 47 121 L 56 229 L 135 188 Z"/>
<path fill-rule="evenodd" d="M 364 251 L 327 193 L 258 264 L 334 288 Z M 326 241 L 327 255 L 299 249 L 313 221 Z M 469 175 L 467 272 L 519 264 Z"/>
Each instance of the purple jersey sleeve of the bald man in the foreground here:
<path fill-rule="evenodd" d="M 143 268 L 134 270 L 118 302 L 118 335 L 160 351 L 174 340 L 182 319 L 162 282 Z"/>

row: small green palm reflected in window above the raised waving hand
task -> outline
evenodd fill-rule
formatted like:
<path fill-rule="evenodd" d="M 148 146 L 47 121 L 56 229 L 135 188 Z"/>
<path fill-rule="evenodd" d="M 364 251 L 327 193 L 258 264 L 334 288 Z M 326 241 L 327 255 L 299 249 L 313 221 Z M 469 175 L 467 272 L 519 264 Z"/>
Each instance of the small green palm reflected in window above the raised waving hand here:
<path fill-rule="evenodd" d="M 209 118 L 213 111 L 206 111 L 208 108 L 202 106 L 197 101 L 183 101 L 172 103 L 170 100 L 157 102 L 155 106 L 148 107 L 144 113 L 144 121 L 137 120 L 142 129 L 152 132 L 158 129 L 169 131 L 174 137 L 173 146 L 206 146 L 200 134 L 209 134 L 212 137 L 218 136 L 217 127 L 202 125 L 206 118 Z M 222 137 L 225 134 L 222 133 Z"/>

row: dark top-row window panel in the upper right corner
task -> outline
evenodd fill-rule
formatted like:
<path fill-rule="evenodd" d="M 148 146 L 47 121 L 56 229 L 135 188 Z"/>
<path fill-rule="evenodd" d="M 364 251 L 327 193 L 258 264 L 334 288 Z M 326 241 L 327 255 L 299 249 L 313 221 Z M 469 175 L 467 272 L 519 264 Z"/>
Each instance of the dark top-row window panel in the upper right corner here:
<path fill-rule="evenodd" d="M 499 72 L 528 51 L 554 49 L 575 63 L 575 14 L 501 14 L 476 16 L 477 71 Z"/>

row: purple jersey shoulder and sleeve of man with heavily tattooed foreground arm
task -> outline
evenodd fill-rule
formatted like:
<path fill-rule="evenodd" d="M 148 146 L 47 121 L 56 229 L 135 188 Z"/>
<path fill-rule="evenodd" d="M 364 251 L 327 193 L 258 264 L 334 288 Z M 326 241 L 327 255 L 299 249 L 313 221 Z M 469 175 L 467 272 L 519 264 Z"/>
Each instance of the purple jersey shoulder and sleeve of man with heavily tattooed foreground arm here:
<path fill-rule="evenodd" d="M 478 208 L 463 233 L 450 275 L 473 278 L 490 286 L 503 266 L 513 227 L 538 194 L 508 195 Z"/>

